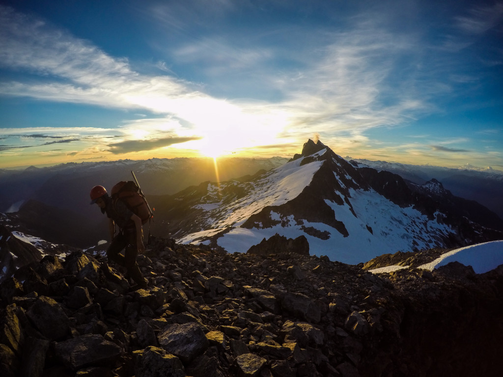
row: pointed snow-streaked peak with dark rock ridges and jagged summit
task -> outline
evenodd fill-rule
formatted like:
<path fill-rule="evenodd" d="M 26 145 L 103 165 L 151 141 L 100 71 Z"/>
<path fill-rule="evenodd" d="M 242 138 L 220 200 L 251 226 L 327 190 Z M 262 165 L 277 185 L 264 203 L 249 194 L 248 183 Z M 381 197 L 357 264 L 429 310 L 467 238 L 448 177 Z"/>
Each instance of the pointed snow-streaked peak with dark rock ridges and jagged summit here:
<path fill-rule="evenodd" d="M 311 140 L 296 157 L 248 182 L 205 183 L 180 193 L 171 204 L 174 223 L 177 211 L 184 219 L 174 237 L 245 252 L 276 233 L 304 235 L 311 254 L 350 264 L 486 240 L 482 227 L 432 208 L 435 202 L 413 194 L 397 175 L 355 168 Z M 470 227 L 478 233 L 460 231 Z"/>

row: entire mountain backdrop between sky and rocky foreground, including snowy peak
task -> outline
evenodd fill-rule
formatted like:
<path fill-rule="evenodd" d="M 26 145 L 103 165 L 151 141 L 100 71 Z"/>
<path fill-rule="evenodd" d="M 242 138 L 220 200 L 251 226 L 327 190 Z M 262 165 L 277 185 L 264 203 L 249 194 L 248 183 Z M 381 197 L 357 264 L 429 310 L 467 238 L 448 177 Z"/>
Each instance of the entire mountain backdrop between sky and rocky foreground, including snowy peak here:
<path fill-rule="evenodd" d="M 359 263 L 385 252 L 503 238 L 501 216 L 473 201 L 485 193 L 485 201 L 497 207 L 503 176 L 348 161 L 312 140 L 289 162 L 219 159 L 219 179 L 213 159 L 204 158 L 2 170 L 0 212 L 8 213 L 0 222 L 8 220 L 13 230 L 48 242 L 91 247 L 108 240 L 108 232 L 105 216 L 89 205 L 90 188 L 102 184 L 110 190 L 117 181 L 131 179 L 131 170 L 155 208 L 152 234 L 227 251 L 244 252 L 276 233 L 302 235 L 311 253 Z M 458 183 L 447 185 L 439 177 Z M 459 182 L 467 177 L 471 195 L 462 199 L 456 193 L 464 190 Z M 497 187 L 500 191 L 493 192 Z"/>

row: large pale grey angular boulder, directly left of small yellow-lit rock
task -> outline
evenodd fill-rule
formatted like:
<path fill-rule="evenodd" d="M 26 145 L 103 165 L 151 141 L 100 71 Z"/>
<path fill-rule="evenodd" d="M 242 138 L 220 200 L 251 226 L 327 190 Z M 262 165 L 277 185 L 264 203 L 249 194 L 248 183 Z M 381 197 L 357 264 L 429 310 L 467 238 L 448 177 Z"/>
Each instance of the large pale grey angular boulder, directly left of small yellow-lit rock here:
<path fill-rule="evenodd" d="M 162 348 L 183 362 L 190 362 L 209 346 L 203 328 L 194 322 L 168 325 L 158 340 Z"/>

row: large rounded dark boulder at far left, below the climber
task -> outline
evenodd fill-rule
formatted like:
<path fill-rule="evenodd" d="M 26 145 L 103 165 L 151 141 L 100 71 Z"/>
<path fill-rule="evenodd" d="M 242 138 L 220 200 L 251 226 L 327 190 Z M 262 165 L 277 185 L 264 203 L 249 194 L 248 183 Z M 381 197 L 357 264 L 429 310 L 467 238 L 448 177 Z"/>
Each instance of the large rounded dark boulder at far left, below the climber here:
<path fill-rule="evenodd" d="M 26 312 L 26 316 L 46 338 L 61 339 L 68 334 L 70 321 L 53 299 L 41 296 Z"/>

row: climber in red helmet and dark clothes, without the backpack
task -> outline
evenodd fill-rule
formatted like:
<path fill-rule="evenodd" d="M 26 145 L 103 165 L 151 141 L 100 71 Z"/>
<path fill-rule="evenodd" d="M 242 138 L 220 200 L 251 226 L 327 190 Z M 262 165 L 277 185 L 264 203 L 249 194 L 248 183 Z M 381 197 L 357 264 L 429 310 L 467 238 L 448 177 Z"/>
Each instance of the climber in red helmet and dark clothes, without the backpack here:
<path fill-rule="evenodd" d="M 130 288 L 130 291 L 146 288 L 148 281 L 143 277 L 138 263 L 136 263 L 138 252 L 145 252 L 141 219 L 130 211 L 122 200 L 110 198 L 103 186 L 94 186 L 90 195 L 91 204 L 96 203 L 101 208 L 101 212 L 106 213 L 109 219 L 112 242 L 107 250 L 108 259 L 127 268 L 129 276 L 136 283 Z M 115 225 L 119 227 L 117 235 L 115 234 Z M 120 254 L 123 249 L 125 249 L 124 256 Z M 108 270 L 108 265 L 105 268 Z"/>

